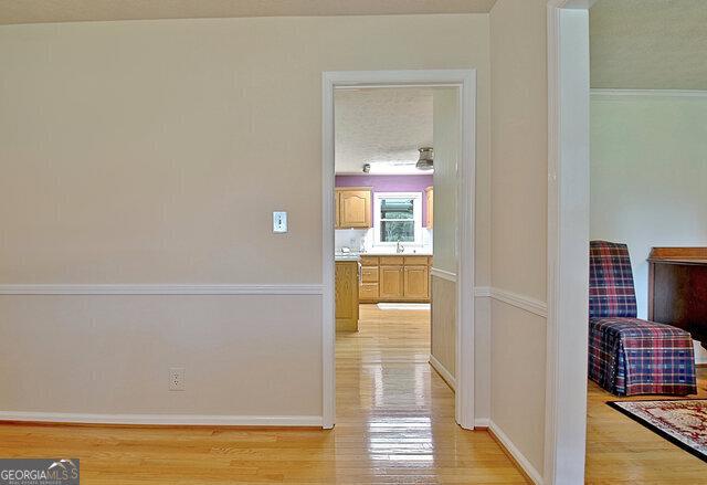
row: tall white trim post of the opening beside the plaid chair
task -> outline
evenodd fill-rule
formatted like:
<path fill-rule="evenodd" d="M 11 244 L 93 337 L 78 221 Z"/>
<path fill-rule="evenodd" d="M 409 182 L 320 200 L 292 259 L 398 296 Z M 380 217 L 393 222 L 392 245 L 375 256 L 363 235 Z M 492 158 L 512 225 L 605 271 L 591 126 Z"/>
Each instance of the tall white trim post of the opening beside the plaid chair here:
<path fill-rule="evenodd" d="M 584 483 L 589 305 L 589 8 L 548 2 L 545 485 Z"/>

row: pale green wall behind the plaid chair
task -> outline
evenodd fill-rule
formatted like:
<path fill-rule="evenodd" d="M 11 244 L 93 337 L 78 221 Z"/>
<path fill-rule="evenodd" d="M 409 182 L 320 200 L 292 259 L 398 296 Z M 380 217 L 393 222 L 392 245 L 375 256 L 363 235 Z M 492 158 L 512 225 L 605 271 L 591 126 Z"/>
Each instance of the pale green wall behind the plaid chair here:
<path fill-rule="evenodd" d="M 592 95 L 591 160 L 591 238 L 629 244 L 646 318 L 651 247 L 707 245 L 707 95 Z"/>

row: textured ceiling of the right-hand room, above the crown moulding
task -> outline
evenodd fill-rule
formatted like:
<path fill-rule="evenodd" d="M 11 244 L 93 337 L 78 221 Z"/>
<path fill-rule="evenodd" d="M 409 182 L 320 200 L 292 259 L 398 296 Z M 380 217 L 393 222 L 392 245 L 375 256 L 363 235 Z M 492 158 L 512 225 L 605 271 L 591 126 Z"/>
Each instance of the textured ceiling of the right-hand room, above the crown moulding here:
<path fill-rule="evenodd" d="M 707 0 L 599 0 L 591 85 L 707 89 Z"/>

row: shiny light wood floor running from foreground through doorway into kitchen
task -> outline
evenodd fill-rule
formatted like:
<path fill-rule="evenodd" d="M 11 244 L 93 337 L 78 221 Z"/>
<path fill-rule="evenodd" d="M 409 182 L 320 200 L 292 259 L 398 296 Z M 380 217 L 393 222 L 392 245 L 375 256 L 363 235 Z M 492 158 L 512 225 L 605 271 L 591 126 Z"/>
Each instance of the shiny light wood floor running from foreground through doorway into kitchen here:
<path fill-rule="evenodd" d="M 429 312 L 363 306 L 337 338 L 334 431 L 2 424 L 0 456 L 78 457 L 84 485 L 526 483 L 488 433 L 454 423 L 429 341 Z"/>

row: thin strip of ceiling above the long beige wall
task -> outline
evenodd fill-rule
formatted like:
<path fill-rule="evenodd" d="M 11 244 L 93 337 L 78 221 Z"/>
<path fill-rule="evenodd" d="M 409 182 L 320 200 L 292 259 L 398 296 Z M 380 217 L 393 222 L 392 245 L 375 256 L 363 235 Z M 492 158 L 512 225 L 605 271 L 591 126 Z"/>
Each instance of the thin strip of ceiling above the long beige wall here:
<path fill-rule="evenodd" d="M 496 0 L 0 0 L 0 24 L 229 17 L 485 13 Z"/>

